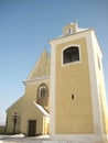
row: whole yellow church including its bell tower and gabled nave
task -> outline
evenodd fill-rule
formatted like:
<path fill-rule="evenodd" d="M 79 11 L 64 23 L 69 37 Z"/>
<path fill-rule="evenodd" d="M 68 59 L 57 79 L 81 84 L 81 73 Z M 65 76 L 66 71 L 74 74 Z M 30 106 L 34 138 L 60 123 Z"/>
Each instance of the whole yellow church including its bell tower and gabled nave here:
<path fill-rule="evenodd" d="M 23 84 L 25 94 L 7 110 L 7 133 L 51 139 L 108 140 L 102 53 L 94 29 L 69 23 L 43 51 Z"/>

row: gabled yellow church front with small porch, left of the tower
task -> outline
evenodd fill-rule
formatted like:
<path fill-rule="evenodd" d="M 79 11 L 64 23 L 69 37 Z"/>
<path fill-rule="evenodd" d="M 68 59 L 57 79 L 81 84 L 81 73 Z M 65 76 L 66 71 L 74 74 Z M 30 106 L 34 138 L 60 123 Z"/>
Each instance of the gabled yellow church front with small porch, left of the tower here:
<path fill-rule="evenodd" d="M 25 94 L 7 110 L 8 134 L 29 136 L 48 134 L 50 127 L 50 54 L 44 50 L 23 84 Z"/>

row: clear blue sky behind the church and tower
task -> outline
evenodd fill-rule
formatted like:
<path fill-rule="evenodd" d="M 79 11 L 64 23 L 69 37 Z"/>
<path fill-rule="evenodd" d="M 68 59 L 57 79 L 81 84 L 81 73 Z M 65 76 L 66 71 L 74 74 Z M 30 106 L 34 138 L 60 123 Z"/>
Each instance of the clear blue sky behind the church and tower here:
<path fill-rule="evenodd" d="M 24 94 L 23 80 L 48 40 L 76 21 L 94 28 L 104 53 L 108 100 L 108 0 L 0 0 L 0 123 L 6 110 Z"/>

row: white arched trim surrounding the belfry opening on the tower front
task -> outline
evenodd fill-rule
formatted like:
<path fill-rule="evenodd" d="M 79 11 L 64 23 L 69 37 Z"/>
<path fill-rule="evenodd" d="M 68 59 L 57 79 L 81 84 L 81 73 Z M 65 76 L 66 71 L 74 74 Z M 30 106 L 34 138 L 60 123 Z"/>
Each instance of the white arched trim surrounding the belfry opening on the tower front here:
<path fill-rule="evenodd" d="M 78 52 L 79 52 L 79 61 L 75 61 L 75 62 L 71 62 L 71 63 L 66 63 L 66 64 L 64 64 L 63 63 L 63 53 L 64 53 L 64 51 L 66 50 L 66 48 L 68 48 L 68 47 L 71 47 L 71 46 L 76 46 L 76 47 L 78 47 Z M 74 65 L 74 64 L 79 64 L 79 63 L 82 63 L 82 54 L 80 54 L 80 46 L 79 45 L 75 45 L 75 44 L 73 44 L 73 45 L 68 45 L 68 46 L 65 46 L 63 50 L 62 50 L 62 66 L 64 67 L 64 66 L 69 66 L 69 65 Z"/>

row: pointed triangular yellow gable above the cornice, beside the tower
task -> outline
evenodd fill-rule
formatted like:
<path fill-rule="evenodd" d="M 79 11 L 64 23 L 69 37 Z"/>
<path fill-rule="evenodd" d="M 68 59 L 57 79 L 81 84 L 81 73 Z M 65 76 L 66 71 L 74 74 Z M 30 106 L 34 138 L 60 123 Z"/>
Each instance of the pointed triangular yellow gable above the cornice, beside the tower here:
<path fill-rule="evenodd" d="M 48 77 L 50 76 L 51 57 L 46 50 L 43 51 L 41 57 L 36 62 L 28 79 Z"/>

